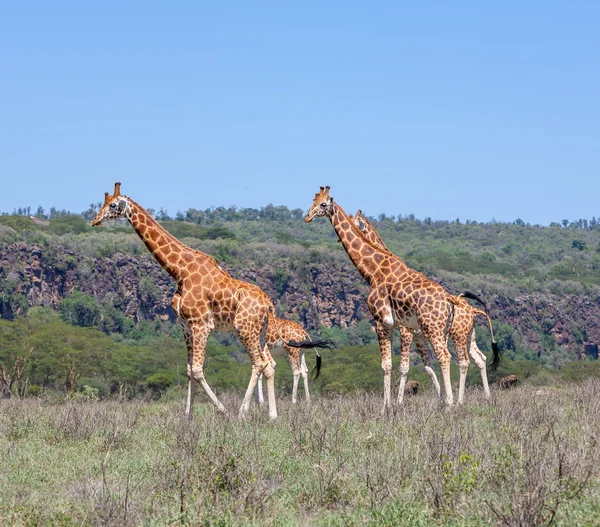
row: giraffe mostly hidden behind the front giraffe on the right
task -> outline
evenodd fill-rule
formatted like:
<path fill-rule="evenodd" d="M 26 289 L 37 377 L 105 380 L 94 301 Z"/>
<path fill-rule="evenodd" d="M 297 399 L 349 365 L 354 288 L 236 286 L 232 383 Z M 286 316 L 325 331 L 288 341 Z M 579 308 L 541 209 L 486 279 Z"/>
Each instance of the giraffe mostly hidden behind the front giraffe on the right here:
<path fill-rule="evenodd" d="M 379 236 L 379 233 L 375 230 L 375 227 L 371 224 L 371 222 L 362 215 L 362 211 L 359 210 L 354 217 L 350 216 L 352 221 L 358 229 L 363 233 L 365 238 L 371 242 L 375 247 L 380 247 L 382 249 L 388 250 L 387 246 Z M 390 251 L 391 252 L 391 251 Z M 486 372 L 486 356 L 479 350 L 477 347 L 477 342 L 475 339 L 475 316 L 481 315 L 486 317 L 490 333 L 492 335 L 492 349 L 494 350 L 494 356 L 498 357 L 498 349 L 496 341 L 494 340 L 494 332 L 492 329 L 492 321 L 487 312 L 487 307 L 485 303 L 476 295 L 472 293 L 465 292 L 462 295 L 458 295 L 461 302 L 455 306 L 454 310 L 454 319 L 452 320 L 452 327 L 450 328 L 450 338 L 452 342 L 454 342 L 454 347 L 456 349 L 456 359 L 460 368 L 460 381 L 458 388 L 458 403 L 462 404 L 464 401 L 464 393 L 465 393 L 465 380 L 467 377 L 467 370 L 469 368 L 469 355 L 473 358 L 473 361 L 479 368 L 481 373 L 481 380 L 483 383 L 483 390 L 486 398 L 490 396 L 490 388 L 487 380 L 487 372 Z M 480 302 L 485 311 L 477 309 L 473 307 L 471 304 L 463 300 L 463 297 L 471 298 Z M 438 392 L 440 393 L 439 384 L 437 382 L 437 377 L 435 372 L 431 368 L 430 354 L 429 349 L 427 347 L 427 342 L 419 338 L 418 330 L 413 332 L 408 328 L 400 327 L 400 390 L 398 392 L 398 402 L 402 402 L 402 398 L 404 395 L 404 385 L 406 383 L 406 378 L 408 376 L 408 369 L 410 365 L 410 345 L 413 341 L 413 337 L 415 340 L 415 344 L 417 346 L 417 351 L 423 360 L 423 364 L 425 365 L 425 371 L 431 378 L 433 385 Z"/>

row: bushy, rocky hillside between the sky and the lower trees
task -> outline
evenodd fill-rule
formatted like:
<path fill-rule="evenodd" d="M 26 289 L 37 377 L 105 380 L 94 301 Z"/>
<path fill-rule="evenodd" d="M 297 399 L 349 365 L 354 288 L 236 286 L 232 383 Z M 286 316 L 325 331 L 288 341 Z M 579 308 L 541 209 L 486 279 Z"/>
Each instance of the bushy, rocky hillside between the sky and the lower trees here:
<path fill-rule="evenodd" d="M 19 320 L 32 307 L 48 306 L 64 321 L 99 329 L 117 341 L 142 334 L 177 337 L 171 278 L 128 225 L 92 230 L 93 212 L 55 211 L 50 219 L 0 216 L 0 316 Z M 301 321 L 311 333 L 333 337 L 341 346 L 374 342 L 367 288 L 329 222 L 306 225 L 302 211 L 273 206 L 191 210 L 176 219 L 161 211 L 157 217 L 233 276 L 263 288 L 280 315 Z M 480 294 L 508 358 L 552 368 L 597 358 L 600 229 L 595 219 L 550 227 L 411 217 L 381 217 L 374 224 L 413 268 L 451 292 Z M 231 337 L 217 340 L 236 347 Z M 483 327 L 478 342 L 489 350 Z"/>

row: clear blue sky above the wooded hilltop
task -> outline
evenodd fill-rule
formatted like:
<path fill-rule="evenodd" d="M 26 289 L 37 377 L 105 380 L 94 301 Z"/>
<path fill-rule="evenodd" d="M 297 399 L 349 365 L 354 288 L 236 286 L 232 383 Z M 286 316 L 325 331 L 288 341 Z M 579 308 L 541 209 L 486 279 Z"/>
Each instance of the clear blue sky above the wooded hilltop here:
<path fill-rule="evenodd" d="M 8 4 L 8 5 L 7 5 Z M 0 211 L 600 216 L 600 3 L 11 2 Z"/>

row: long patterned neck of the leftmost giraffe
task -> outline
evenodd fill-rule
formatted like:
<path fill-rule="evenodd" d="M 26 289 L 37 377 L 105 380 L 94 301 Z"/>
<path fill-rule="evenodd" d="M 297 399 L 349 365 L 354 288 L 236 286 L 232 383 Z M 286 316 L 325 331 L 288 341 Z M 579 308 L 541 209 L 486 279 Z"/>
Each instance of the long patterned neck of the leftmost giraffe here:
<path fill-rule="evenodd" d="M 194 253 L 195 256 L 202 253 L 194 251 L 167 232 L 141 205 L 131 198 L 127 200 L 131 207 L 127 219 L 133 230 L 163 269 L 175 279 L 178 285 L 181 284 L 187 276 L 187 267 L 182 257 L 186 253 Z"/>

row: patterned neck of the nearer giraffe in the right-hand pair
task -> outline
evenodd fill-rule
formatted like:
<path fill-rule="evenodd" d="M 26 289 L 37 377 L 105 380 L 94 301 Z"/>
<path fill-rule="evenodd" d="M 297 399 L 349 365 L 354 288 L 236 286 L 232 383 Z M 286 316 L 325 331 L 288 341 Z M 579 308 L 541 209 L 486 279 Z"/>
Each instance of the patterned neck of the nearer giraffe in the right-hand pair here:
<path fill-rule="evenodd" d="M 389 259 L 393 255 L 371 245 L 337 203 L 333 204 L 333 213 L 329 219 L 358 272 L 369 285 L 374 285 L 381 263 L 387 260 L 389 265 Z"/>

